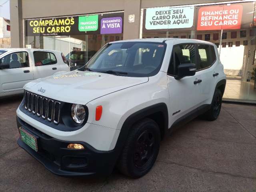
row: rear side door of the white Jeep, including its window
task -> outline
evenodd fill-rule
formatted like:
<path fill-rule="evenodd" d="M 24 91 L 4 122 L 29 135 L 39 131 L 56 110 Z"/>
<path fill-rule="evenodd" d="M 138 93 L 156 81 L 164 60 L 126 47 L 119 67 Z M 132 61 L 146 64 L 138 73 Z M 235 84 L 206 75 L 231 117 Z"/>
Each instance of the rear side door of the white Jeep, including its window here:
<path fill-rule="evenodd" d="M 198 44 L 198 65 L 197 73 L 200 74 L 200 92 L 202 102 L 211 102 L 215 90 L 218 73 L 215 71 L 217 66 L 216 53 L 214 46 L 209 44 Z"/>

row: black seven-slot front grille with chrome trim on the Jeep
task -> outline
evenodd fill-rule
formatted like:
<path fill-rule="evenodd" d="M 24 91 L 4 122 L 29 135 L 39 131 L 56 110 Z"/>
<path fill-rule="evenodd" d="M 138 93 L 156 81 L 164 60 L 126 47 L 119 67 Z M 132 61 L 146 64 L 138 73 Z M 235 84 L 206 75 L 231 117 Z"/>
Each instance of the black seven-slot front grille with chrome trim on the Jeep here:
<path fill-rule="evenodd" d="M 60 122 L 60 102 L 24 91 L 24 108 L 36 114 L 38 117 L 47 119 L 49 122 Z"/>

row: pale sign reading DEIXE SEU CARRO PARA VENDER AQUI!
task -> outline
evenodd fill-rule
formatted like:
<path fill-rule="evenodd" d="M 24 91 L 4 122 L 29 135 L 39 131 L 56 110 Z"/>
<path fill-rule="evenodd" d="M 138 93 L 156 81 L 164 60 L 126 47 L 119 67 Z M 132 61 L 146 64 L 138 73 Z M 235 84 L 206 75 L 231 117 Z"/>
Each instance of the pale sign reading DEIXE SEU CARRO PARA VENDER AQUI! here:
<path fill-rule="evenodd" d="M 148 8 L 146 10 L 145 28 L 147 30 L 191 28 L 193 21 L 194 6 Z"/>

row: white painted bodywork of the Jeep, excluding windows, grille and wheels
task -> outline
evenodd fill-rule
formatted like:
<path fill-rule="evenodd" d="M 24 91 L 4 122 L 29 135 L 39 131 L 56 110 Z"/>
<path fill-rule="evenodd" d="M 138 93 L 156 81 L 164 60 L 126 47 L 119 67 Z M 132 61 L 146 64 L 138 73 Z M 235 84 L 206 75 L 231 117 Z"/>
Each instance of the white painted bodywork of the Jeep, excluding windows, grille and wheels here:
<path fill-rule="evenodd" d="M 18 119 L 52 138 L 68 142 L 85 142 L 100 152 L 112 152 L 119 147 L 121 140 L 126 139 L 127 133 L 124 134 L 126 132 L 124 129 L 129 124 L 127 122 L 132 124 L 140 116 L 151 115 L 152 110 L 159 112 L 156 115 L 160 114 L 166 118 L 162 122 L 161 137 L 163 137 L 183 122 L 188 114 L 196 113 L 204 106 L 210 106 L 216 88 L 222 86 L 224 91 L 226 76 L 216 45 L 191 39 L 138 39 L 118 42 L 129 41 L 166 44 L 162 66 L 156 75 L 128 77 L 75 70 L 62 76 L 34 80 L 24 86 L 24 90 L 52 100 L 87 106 L 88 120 L 81 128 L 62 131 L 48 126 L 26 114 L 22 104 L 17 109 Z M 174 76 L 167 73 L 171 53 L 175 45 L 185 43 L 213 46 L 216 61 L 209 68 L 196 71 L 194 76 L 176 80 Z M 213 76 L 216 73 L 218 75 Z M 202 80 L 201 83 L 193 83 L 199 79 Z M 40 88 L 45 92 L 38 92 Z M 97 121 L 96 107 L 100 105 L 102 116 Z M 110 167 L 113 168 L 113 166 Z M 65 174 L 56 170 L 51 171 L 56 174 Z"/>

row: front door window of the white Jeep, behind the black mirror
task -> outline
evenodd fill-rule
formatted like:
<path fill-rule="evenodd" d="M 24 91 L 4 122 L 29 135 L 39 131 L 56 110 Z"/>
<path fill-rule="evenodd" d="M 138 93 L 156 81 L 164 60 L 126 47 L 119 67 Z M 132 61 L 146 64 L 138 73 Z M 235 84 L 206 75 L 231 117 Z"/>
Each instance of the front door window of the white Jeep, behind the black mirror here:
<path fill-rule="evenodd" d="M 194 44 L 182 44 L 173 47 L 168 74 L 177 75 L 178 66 L 182 64 L 196 64 L 196 50 Z"/>

